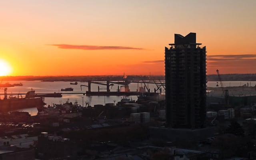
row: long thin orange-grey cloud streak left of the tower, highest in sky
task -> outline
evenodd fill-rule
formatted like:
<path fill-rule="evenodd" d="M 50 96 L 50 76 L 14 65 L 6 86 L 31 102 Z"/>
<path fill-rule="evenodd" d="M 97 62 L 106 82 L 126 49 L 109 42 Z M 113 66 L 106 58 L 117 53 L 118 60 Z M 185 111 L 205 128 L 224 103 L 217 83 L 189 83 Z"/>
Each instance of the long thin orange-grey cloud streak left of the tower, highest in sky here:
<path fill-rule="evenodd" d="M 126 46 L 90 46 L 90 45 L 71 45 L 71 44 L 46 44 L 48 46 L 56 46 L 62 49 L 76 50 L 144 50 L 144 48 L 134 48 Z"/>

